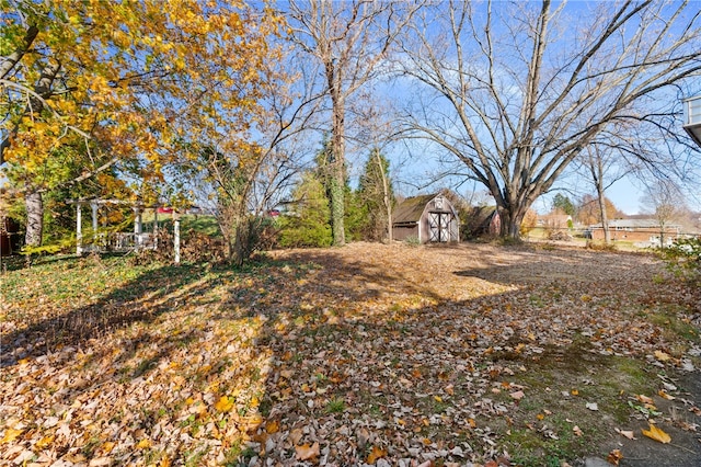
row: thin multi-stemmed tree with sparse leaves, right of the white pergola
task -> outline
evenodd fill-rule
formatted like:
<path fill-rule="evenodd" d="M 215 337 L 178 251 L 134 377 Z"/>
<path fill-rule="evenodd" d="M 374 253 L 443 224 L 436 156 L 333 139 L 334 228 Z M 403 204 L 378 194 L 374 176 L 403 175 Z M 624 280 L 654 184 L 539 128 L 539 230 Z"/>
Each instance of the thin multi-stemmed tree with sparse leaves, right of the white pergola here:
<path fill-rule="evenodd" d="M 183 145 L 176 172 L 209 203 L 227 242 L 227 257 L 241 265 L 258 244 L 267 210 L 288 193 L 308 152 L 307 132 L 315 126 L 322 95 L 295 69 L 294 53 L 286 61 L 266 64 L 262 73 L 260 109 L 252 113 L 255 132 L 244 143 L 231 145 L 231 135 Z"/>

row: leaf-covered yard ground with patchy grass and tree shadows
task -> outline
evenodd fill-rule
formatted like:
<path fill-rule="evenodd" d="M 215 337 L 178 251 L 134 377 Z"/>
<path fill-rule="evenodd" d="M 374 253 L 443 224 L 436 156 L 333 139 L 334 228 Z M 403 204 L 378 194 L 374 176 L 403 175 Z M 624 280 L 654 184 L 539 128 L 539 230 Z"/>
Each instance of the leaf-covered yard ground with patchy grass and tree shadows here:
<path fill-rule="evenodd" d="M 698 297 L 652 255 L 355 243 L 1 277 L 0 465 L 575 465 L 648 420 L 698 437 Z"/>

